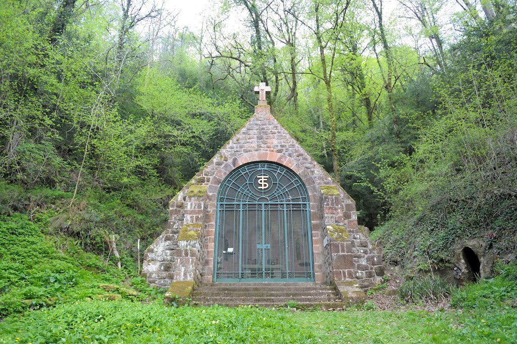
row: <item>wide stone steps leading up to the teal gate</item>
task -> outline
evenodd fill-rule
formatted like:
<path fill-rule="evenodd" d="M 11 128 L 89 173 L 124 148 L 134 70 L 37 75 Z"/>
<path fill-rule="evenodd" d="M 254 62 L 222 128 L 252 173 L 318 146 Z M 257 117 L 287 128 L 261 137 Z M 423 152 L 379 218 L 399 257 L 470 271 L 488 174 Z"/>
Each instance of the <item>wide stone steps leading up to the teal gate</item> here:
<path fill-rule="evenodd" d="M 192 293 L 191 305 L 257 305 L 260 307 L 340 308 L 343 301 L 332 287 L 299 283 L 211 283 Z"/>

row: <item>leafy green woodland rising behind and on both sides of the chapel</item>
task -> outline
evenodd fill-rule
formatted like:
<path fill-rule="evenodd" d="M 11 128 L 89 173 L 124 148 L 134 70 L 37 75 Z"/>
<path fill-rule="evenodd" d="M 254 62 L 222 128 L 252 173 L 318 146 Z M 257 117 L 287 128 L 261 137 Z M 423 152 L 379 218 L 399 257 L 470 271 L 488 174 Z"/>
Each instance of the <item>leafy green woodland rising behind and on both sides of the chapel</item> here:
<path fill-rule="evenodd" d="M 117 235 L 134 257 L 266 82 L 387 262 L 447 265 L 470 237 L 515 259 L 513 0 L 224 0 L 197 29 L 179 16 L 0 2 L 0 213 L 46 212 L 87 249 Z"/>

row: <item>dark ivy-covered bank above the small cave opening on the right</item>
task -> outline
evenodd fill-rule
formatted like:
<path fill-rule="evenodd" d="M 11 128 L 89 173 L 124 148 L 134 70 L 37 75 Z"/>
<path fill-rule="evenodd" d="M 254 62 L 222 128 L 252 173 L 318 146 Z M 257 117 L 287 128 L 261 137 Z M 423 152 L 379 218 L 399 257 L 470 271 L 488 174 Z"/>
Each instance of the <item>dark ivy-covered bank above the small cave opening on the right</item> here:
<path fill-rule="evenodd" d="M 454 195 L 450 193 L 449 195 Z M 475 195 L 443 199 L 427 210 L 393 218 L 374 232 L 384 247 L 385 261 L 429 270 L 430 263 L 447 265 L 455 246 L 485 237 L 487 249 L 507 257 L 517 249 L 517 197 Z"/>

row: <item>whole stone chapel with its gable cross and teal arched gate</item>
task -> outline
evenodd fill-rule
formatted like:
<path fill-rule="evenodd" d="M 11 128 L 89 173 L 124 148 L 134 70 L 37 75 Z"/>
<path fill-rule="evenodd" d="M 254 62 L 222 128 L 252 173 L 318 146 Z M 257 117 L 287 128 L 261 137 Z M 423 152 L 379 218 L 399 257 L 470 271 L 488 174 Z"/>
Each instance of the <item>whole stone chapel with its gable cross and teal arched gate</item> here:
<path fill-rule="evenodd" d="M 170 201 L 166 230 L 145 251 L 143 276 L 166 297 L 209 303 L 216 291 L 221 304 L 221 293 L 274 286 L 285 300 L 327 288 L 324 300 L 353 302 L 382 281 L 354 200 L 271 115 L 269 90 L 255 87 L 254 115 Z"/>

